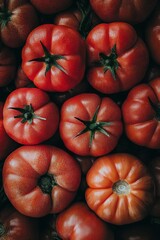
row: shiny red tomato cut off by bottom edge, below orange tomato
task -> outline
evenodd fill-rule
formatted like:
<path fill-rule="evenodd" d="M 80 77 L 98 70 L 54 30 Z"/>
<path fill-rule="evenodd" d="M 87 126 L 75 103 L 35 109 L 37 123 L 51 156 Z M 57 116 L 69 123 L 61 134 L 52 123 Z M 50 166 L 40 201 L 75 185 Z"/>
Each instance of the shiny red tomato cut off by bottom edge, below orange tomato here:
<path fill-rule="evenodd" d="M 56 230 L 62 239 L 114 240 L 111 229 L 83 202 L 72 204 L 56 219 Z"/>

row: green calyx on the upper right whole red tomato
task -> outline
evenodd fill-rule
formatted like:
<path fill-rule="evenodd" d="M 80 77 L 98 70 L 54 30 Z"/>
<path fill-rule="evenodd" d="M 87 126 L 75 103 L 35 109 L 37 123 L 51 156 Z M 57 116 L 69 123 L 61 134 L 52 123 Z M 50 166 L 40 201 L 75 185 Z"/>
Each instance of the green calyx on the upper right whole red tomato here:
<path fill-rule="evenodd" d="M 117 61 L 116 44 L 111 49 L 111 53 L 109 55 L 99 53 L 99 57 L 100 60 L 98 65 L 103 67 L 104 73 L 109 70 L 114 80 L 116 80 L 116 70 L 119 67 L 119 63 Z"/>

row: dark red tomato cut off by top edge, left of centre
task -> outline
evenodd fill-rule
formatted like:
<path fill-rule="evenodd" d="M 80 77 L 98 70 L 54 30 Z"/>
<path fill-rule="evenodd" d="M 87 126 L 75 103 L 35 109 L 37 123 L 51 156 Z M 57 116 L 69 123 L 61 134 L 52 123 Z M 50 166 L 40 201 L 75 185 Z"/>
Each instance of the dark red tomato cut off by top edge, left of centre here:
<path fill-rule="evenodd" d="M 30 2 L 40 13 L 53 14 L 70 7 L 73 3 L 73 0 L 30 0 Z"/>

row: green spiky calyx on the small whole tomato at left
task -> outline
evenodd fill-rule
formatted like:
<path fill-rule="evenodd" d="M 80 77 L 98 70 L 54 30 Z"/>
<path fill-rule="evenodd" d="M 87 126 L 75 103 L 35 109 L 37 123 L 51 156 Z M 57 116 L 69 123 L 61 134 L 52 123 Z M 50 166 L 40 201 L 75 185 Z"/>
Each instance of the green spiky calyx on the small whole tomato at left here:
<path fill-rule="evenodd" d="M 21 123 L 26 123 L 28 122 L 31 124 L 33 122 L 33 119 L 37 118 L 40 120 L 46 120 L 46 118 L 37 116 L 34 113 L 34 109 L 32 105 L 25 105 L 24 108 L 16 108 L 16 107 L 10 107 L 9 109 L 13 109 L 16 111 L 19 111 L 21 114 L 14 116 L 14 118 L 22 118 Z"/>

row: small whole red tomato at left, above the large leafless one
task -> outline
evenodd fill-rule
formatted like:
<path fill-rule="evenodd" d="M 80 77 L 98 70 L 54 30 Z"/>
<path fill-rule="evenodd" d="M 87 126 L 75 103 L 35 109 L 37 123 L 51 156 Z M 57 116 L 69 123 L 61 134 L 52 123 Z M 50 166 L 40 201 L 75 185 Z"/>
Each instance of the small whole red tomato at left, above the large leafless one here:
<path fill-rule="evenodd" d="M 38 88 L 19 88 L 5 101 L 3 124 L 7 134 L 16 142 L 38 144 L 56 132 L 59 111 L 46 92 Z"/>

